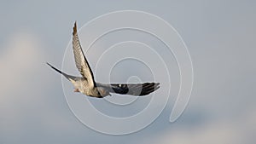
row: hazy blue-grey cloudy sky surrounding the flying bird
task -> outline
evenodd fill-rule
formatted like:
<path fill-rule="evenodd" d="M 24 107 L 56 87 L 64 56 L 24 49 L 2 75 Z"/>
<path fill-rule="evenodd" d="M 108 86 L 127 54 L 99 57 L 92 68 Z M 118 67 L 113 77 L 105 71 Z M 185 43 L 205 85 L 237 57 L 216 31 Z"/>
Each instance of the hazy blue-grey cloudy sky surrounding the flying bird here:
<path fill-rule="evenodd" d="M 256 133 L 255 8 L 256 3 L 251 0 L 1 2 L 0 143 L 253 144 L 256 141 L 253 135 Z M 117 10 L 157 15 L 172 25 L 186 43 L 193 63 L 194 84 L 188 106 L 174 123 L 169 122 L 169 117 L 180 84 L 177 61 L 163 43 L 147 33 L 131 30 L 109 33 L 85 54 L 97 81 L 158 81 L 161 87 L 154 95 L 136 99 L 120 95 L 87 98 L 73 93 L 72 84 L 46 65 L 48 61 L 62 67 L 64 72 L 79 75 L 69 45 L 74 21 L 80 28 L 102 14 Z M 155 28 L 161 27 L 155 25 Z M 98 31 L 81 28 L 82 45 Z M 166 63 L 167 74 L 152 51 L 145 50 L 140 43 L 120 43 L 124 41 L 147 43 Z M 115 43 L 119 45 L 106 51 Z M 101 57 L 104 52 L 106 56 Z M 109 74 L 107 64 L 118 59 L 114 55 L 119 59 L 123 55 L 141 57 L 117 63 Z M 150 101 L 157 103 L 153 110 L 163 106 L 162 101 L 166 107 L 143 130 L 108 135 L 83 124 L 86 117 L 99 125 L 106 124 L 84 110 L 87 100 L 98 111 L 113 117 L 131 116 Z M 133 102 L 127 106 L 111 103 L 127 101 Z"/>

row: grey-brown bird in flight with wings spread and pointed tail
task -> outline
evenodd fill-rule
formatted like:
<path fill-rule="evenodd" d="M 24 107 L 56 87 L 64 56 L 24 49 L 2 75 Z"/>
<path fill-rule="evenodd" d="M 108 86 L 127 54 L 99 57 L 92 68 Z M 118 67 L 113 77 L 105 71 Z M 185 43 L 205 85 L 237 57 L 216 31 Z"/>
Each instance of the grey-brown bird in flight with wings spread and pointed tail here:
<path fill-rule="evenodd" d="M 82 77 L 75 77 L 61 72 L 55 66 L 49 65 L 56 72 L 61 73 L 74 86 L 74 92 L 79 92 L 87 96 L 103 98 L 111 96 L 110 93 L 119 95 L 134 95 L 143 96 L 154 92 L 160 88 L 160 83 L 143 83 L 143 84 L 102 84 L 96 83 L 93 72 L 91 71 L 88 60 L 86 60 L 83 49 L 79 42 L 79 35 L 77 31 L 77 22 L 73 26 L 73 55 L 76 67 L 78 68 Z"/>

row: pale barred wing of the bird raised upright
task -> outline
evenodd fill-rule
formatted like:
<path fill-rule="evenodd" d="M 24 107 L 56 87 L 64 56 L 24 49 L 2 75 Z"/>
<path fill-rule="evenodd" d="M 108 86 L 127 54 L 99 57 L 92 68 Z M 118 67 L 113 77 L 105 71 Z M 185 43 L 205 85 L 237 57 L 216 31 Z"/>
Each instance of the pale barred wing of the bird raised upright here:
<path fill-rule="evenodd" d="M 76 66 L 79 69 L 81 75 L 88 81 L 89 87 L 95 86 L 93 73 L 90 69 L 89 63 L 84 56 L 83 49 L 79 42 L 79 35 L 77 31 L 77 24 L 75 22 L 73 26 L 73 54 L 76 62 Z"/>

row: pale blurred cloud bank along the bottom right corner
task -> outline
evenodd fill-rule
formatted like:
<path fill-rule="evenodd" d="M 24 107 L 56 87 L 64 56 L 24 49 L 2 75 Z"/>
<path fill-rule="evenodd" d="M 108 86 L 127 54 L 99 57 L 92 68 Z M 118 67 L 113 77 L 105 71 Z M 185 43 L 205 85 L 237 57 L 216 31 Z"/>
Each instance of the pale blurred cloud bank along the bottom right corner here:
<path fill-rule="evenodd" d="M 249 111 L 241 117 L 231 120 L 218 120 L 194 126 L 178 127 L 164 131 L 145 143 L 253 143 L 256 130 L 256 115 Z"/>

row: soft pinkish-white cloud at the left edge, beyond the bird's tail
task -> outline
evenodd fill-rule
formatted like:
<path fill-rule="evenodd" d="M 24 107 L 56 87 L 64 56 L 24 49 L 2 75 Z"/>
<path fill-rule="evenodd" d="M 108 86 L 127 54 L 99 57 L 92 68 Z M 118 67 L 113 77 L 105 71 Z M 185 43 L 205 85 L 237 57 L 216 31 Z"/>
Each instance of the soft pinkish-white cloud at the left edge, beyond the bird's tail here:
<path fill-rule="evenodd" d="M 29 95 L 34 93 L 32 74 L 38 72 L 38 60 L 44 53 L 40 49 L 38 39 L 30 33 L 18 33 L 9 38 L 3 46 L 0 65 L 0 116 L 3 119 L 1 128 L 19 129 L 20 118 L 25 114 L 23 109 L 29 107 L 29 101 L 38 97 Z M 40 55 L 41 54 L 41 55 Z"/>

